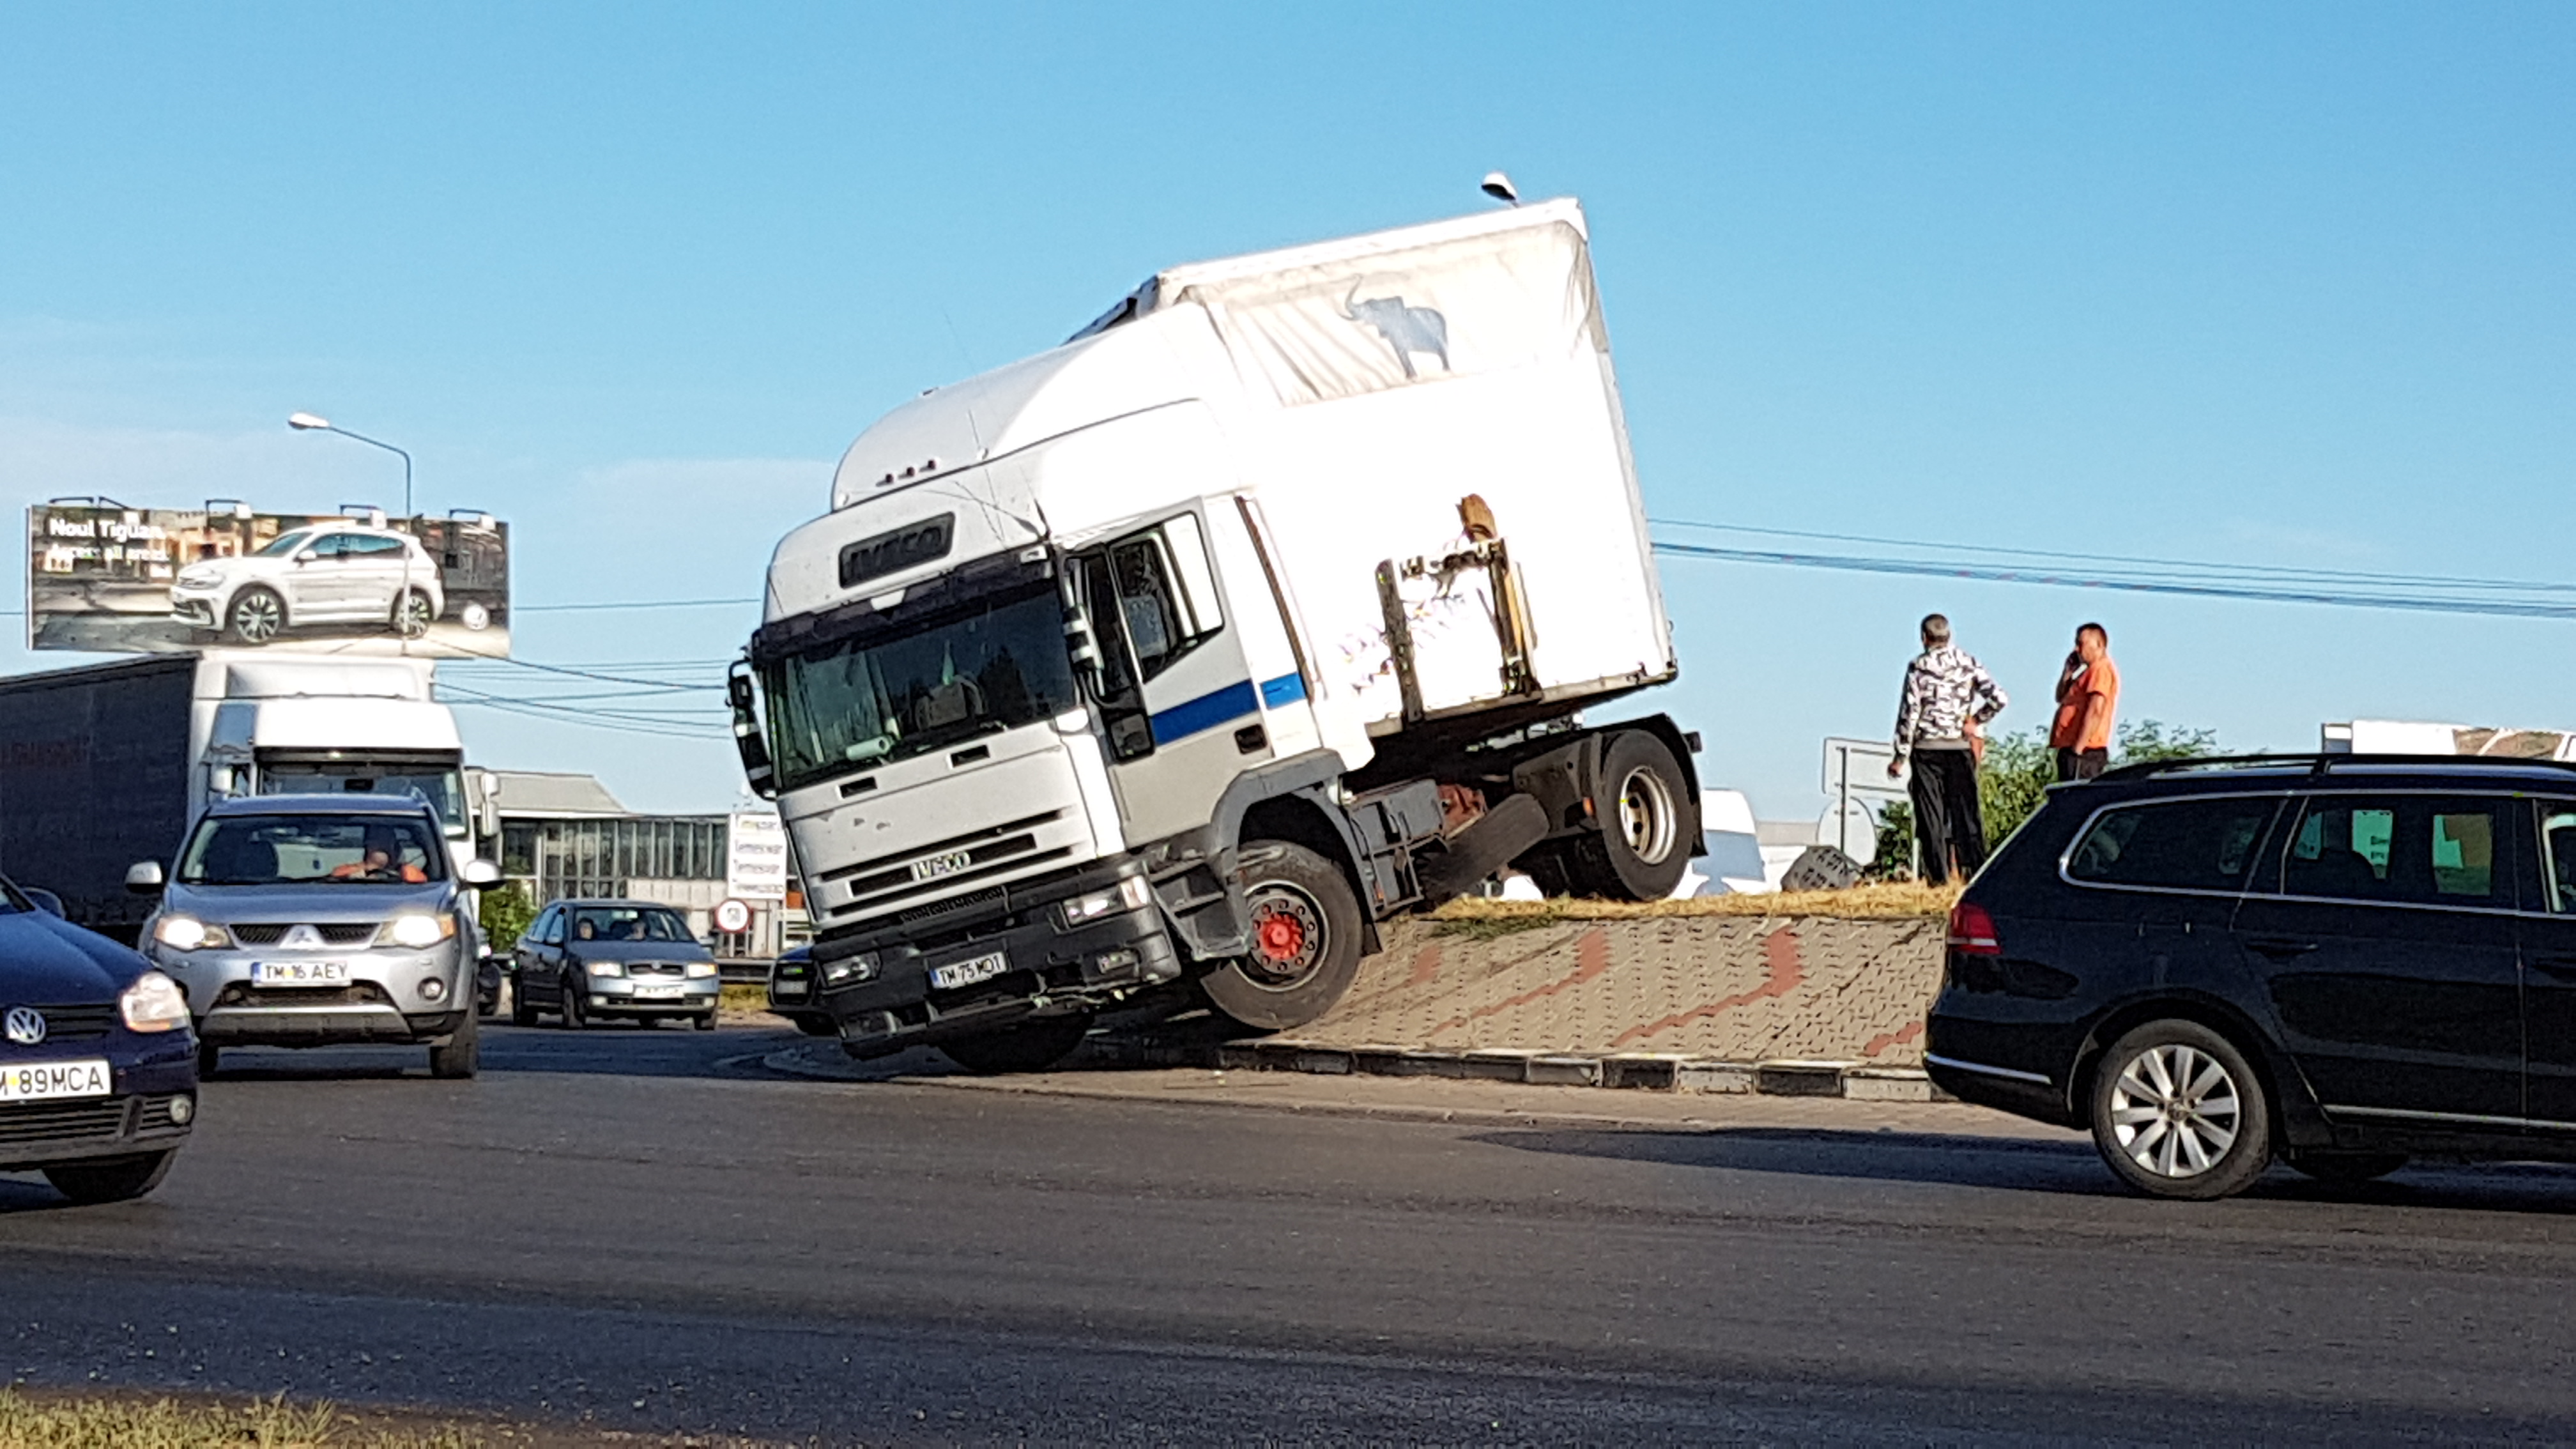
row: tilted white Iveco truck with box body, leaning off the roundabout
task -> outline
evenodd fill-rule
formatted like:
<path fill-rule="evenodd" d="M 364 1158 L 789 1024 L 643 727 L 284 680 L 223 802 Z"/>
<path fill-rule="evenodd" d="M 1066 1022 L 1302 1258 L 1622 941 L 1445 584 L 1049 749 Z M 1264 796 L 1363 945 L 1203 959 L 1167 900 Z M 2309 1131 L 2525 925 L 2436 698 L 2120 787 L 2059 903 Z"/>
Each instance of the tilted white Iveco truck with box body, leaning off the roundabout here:
<path fill-rule="evenodd" d="M 925 392 L 770 562 L 734 732 L 853 1055 L 1030 1067 L 1200 980 L 1311 1021 L 1515 864 L 1651 900 L 1695 740 L 1574 201 L 1157 273 Z"/>

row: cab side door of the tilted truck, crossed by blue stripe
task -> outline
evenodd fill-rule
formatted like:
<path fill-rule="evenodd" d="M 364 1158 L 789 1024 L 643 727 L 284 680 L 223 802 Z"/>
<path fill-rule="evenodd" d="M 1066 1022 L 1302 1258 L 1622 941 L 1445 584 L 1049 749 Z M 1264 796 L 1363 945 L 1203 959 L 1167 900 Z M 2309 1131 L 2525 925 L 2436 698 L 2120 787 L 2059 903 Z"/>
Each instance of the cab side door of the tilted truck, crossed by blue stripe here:
<path fill-rule="evenodd" d="M 1123 534 L 1077 559 L 1077 588 L 1100 637 L 1128 846 L 1206 825 L 1226 786 L 1270 758 L 1262 683 L 1226 619 L 1208 523 L 1182 511 Z"/>

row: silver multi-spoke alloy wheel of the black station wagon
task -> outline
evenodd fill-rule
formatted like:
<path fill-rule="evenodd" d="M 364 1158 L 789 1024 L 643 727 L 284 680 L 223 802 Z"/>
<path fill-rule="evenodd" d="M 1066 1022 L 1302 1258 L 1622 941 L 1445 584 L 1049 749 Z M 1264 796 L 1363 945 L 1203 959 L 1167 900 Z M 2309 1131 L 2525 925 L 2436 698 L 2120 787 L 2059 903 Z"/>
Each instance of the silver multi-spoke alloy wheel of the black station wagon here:
<path fill-rule="evenodd" d="M 2228 1196 L 2272 1165 L 2262 1075 L 2197 1021 L 2151 1021 L 2102 1055 L 2092 1129 L 2102 1160 L 2154 1196 Z"/>

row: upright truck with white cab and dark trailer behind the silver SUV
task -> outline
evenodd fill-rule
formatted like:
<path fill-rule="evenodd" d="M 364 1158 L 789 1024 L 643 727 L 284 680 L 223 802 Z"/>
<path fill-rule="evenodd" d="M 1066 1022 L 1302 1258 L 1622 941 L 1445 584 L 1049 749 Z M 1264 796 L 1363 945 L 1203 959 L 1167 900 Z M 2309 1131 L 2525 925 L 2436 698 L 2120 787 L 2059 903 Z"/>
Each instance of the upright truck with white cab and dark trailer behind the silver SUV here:
<path fill-rule="evenodd" d="M 492 804 L 430 670 L 193 652 L 0 678 L 0 871 L 134 941 L 152 900 L 126 869 L 167 864 L 209 802 L 368 789 L 428 797 L 461 864 Z"/>

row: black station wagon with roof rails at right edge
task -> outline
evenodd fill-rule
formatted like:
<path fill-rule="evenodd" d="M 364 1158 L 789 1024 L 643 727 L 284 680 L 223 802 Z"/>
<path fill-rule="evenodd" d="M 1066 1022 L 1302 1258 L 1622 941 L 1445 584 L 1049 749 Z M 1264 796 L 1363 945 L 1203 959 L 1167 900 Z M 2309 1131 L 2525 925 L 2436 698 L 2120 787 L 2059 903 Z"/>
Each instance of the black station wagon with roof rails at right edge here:
<path fill-rule="evenodd" d="M 2576 766 L 2298 755 L 2053 786 L 1950 915 L 1932 1080 L 2156 1196 L 2576 1158 Z"/>

